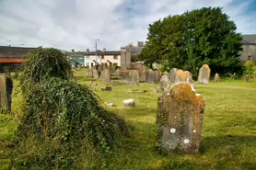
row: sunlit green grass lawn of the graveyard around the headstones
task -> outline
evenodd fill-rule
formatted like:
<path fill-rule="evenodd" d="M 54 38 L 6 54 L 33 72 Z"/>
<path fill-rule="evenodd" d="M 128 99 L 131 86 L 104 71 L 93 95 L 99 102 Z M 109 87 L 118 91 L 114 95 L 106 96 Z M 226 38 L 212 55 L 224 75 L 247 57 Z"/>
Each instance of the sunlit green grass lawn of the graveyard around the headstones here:
<path fill-rule="evenodd" d="M 76 81 L 88 85 L 85 70 L 76 71 Z M 121 82 L 121 81 L 119 81 Z M 103 87 L 101 81 L 97 81 Z M 18 85 L 18 81 L 15 81 Z M 157 85 L 115 85 L 112 92 L 95 91 L 116 107 L 108 107 L 134 127 L 131 138 L 107 159 L 108 169 L 256 169 L 256 82 L 224 80 L 219 84 L 195 85 L 204 95 L 206 108 L 200 153 L 161 155 L 155 152 Z M 147 90 L 140 94 L 136 91 Z M 134 93 L 128 93 L 133 91 Z M 123 99 L 134 98 L 136 108 L 126 108 Z M 0 114 L 0 169 L 8 169 L 20 115 L 21 96 L 13 96 L 13 115 Z"/>

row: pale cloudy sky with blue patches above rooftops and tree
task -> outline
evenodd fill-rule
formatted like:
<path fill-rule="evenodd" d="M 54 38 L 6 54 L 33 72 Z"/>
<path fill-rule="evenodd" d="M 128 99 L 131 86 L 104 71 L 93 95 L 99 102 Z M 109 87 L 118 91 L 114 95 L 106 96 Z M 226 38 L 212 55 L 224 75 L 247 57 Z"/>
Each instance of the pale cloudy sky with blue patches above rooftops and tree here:
<path fill-rule="evenodd" d="M 0 45 L 118 51 L 145 41 L 148 24 L 208 6 L 223 7 L 242 34 L 256 34 L 255 0 L 0 0 Z"/>

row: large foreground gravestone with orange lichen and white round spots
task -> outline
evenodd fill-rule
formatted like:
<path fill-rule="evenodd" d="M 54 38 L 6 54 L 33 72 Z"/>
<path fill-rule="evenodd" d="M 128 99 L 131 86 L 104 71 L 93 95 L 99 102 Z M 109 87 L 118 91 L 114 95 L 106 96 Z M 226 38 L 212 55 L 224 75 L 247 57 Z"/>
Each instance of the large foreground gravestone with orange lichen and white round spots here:
<path fill-rule="evenodd" d="M 192 85 L 178 83 L 158 97 L 157 146 L 179 153 L 197 153 L 203 127 L 205 99 Z"/>

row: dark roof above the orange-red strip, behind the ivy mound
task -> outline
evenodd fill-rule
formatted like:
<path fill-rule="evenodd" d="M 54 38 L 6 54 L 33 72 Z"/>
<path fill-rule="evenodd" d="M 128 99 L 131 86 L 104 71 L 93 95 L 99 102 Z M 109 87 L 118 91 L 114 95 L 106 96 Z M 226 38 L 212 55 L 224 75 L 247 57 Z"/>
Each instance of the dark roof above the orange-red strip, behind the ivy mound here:
<path fill-rule="evenodd" d="M 36 50 L 37 48 L 24 48 L 24 47 L 9 47 L 0 46 L 0 58 L 23 58 L 29 51 Z"/>

